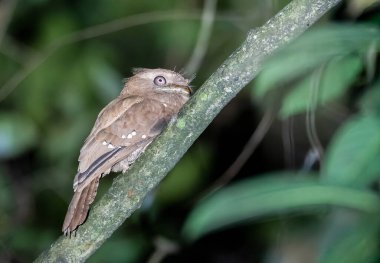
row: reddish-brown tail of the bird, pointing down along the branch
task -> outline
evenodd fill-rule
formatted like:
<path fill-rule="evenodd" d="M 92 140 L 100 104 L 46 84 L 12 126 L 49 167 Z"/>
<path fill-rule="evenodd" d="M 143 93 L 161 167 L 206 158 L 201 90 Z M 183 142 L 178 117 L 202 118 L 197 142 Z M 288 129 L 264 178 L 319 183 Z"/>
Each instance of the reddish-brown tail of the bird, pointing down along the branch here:
<path fill-rule="evenodd" d="M 62 231 L 65 235 L 70 235 L 71 232 L 86 220 L 90 204 L 96 196 L 99 179 L 100 176 L 83 189 L 74 192 L 62 226 Z"/>

